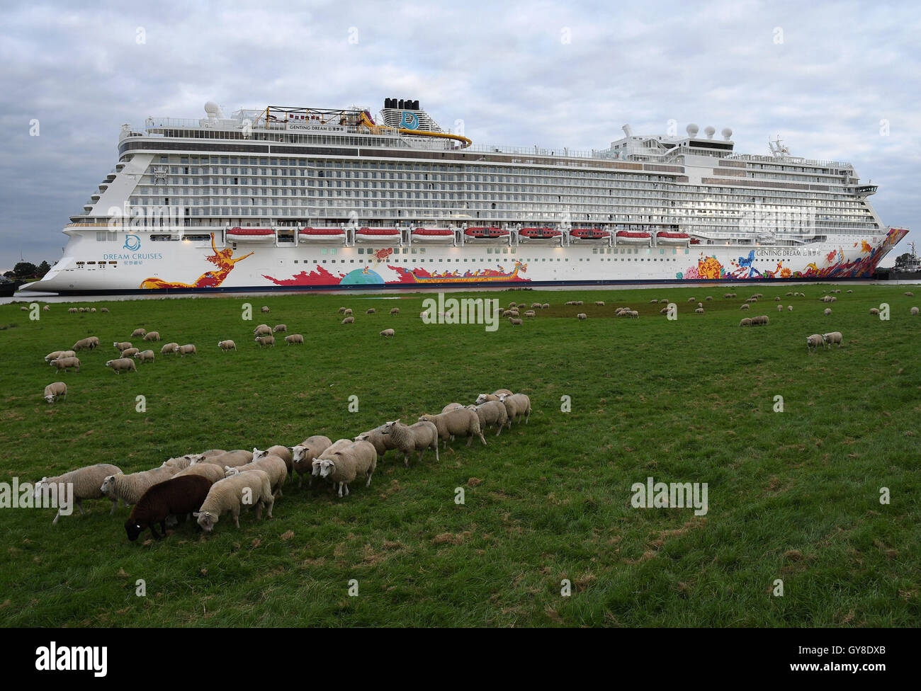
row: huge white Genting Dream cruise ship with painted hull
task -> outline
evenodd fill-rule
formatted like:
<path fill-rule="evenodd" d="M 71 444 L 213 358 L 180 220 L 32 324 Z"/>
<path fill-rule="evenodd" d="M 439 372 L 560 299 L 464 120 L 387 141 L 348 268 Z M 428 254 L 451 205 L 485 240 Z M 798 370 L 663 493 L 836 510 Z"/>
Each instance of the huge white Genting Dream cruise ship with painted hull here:
<path fill-rule="evenodd" d="M 868 277 L 907 233 L 848 163 L 732 131 L 484 146 L 418 100 L 122 125 L 118 163 L 24 290 L 57 294 Z"/>

